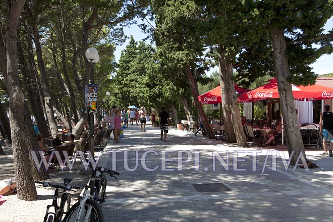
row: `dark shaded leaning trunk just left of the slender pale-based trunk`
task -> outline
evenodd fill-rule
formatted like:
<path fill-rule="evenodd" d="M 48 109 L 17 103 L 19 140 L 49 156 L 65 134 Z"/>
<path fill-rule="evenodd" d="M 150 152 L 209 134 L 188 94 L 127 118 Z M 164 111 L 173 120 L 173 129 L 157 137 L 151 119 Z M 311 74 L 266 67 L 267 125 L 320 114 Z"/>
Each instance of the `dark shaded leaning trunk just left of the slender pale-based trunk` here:
<path fill-rule="evenodd" d="M 47 133 L 48 133 L 48 128 L 47 128 L 46 120 L 45 120 L 44 113 L 43 113 L 42 102 L 40 100 L 40 96 L 38 96 L 39 90 L 38 90 L 37 82 L 36 82 L 35 75 L 33 74 L 33 72 L 31 72 L 31 71 L 29 72 L 29 70 L 28 70 L 28 66 L 24 60 L 25 56 L 24 56 L 20 43 L 18 43 L 18 53 L 19 53 L 18 57 L 19 57 L 19 63 L 20 63 L 20 70 L 23 75 L 23 80 L 24 80 L 24 83 L 27 88 L 28 97 L 29 97 L 29 101 L 31 104 L 32 114 L 36 119 L 36 123 L 37 123 L 38 129 L 39 129 L 39 132 L 44 137 L 46 137 Z"/>

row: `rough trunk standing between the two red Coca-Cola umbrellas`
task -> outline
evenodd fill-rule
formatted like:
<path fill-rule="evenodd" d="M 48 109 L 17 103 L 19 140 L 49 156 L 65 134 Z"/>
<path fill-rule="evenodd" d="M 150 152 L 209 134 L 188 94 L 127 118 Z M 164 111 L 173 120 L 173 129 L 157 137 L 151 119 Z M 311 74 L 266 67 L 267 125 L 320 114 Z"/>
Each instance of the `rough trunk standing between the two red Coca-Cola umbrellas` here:
<path fill-rule="evenodd" d="M 219 69 L 219 82 L 221 87 L 221 101 L 223 109 L 228 110 L 225 118 L 226 139 L 236 141 L 238 146 L 248 147 L 247 139 L 243 130 L 241 115 L 239 113 L 239 106 L 237 104 L 237 95 L 235 89 L 235 82 L 233 80 L 233 65 L 230 60 L 225 58 L 225 52 L 219 46 L 218 49 L 218 69 Z M 230 110 L 230 111 L 229 111 Z M 229 114 L 231 113 L 231 116 Z M 231 121 L 228 120 L 231 118 Z M 230 126 L 230 123 L 232 125 Z M 231 141 L 229 141 L 231 142 Z"/>

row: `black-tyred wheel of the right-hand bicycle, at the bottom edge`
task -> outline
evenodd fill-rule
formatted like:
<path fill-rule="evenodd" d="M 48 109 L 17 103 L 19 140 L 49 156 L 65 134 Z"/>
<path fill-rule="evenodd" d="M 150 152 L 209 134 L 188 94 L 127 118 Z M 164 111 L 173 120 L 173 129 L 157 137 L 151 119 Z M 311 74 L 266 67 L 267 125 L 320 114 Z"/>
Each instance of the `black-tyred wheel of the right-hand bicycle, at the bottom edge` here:
<path fill-rule="evenodd" d="M 87 210 L 89 207 L 91 207 L 91 212 L 88 218 L 88 221 L 90 222 L 104 222 L 104 216 L 102 213 L 101 208 L 97 205 L 97 203 L 93 200 L 87 199 L 84 203 L 84 207 L 82 209 L 81 216 L 79 220 L 76 220 L 76 216 L 78 214 L 79 206 L 81 201 L 76 202 L 66 213 L 65 218 L 63 221 L 65 222 L 82 222 L 85 220 L 85 218 L 88 216 Z"/>

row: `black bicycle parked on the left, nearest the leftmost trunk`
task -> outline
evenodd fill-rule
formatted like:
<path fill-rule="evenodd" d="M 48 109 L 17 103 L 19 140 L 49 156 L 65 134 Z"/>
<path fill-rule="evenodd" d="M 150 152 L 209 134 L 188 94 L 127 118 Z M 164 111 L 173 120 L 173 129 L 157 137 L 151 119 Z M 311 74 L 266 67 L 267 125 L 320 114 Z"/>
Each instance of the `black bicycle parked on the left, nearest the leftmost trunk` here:
<path fill-rule="evenodd" d="M 71 181 L 72 179 L 65 178 L 64 185 L 54 185 L 45 181 L 35 181 L 36 184 L 42 184 L 38 185 L 37 187 L 52 187 L 55 190 L 52 204 L 47 205 L 46 207 L 44 222 L 60 222 L 62 221 L 63 215 L 69 211 L 71 207 L 71 195 L 66 191 L 74 191 L 72 189 L 81 189 L 80 187 L 76 186 L 68 186 Z M 59 192 L 60 189 L 63 189 L 63 191 Z M 58 205 L 59 193 L 63 193 L 61 196 L 60 205 Z M 50 207 L 54 207 L 54 212 L 49 212 Z"/>

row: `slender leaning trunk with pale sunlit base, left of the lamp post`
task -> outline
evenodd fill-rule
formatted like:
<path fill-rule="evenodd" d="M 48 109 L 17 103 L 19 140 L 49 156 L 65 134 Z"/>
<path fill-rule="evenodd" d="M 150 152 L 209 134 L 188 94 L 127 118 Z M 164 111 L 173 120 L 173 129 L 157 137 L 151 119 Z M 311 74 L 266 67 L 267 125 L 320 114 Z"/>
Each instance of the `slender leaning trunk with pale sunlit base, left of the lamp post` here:
<path fill-rule="evenodd" d="M 50 128 L 52 137 L 55 138 L 58 133 L 58 125 L 54 119 L 54 113 L 53 113 L 53 108 L 52 108 L 53 102 L 52 102 L 51 96 L 50 96 L 50 87 L 49 87 L 49 84 L 47 81 L 47 75 L 46 75 L 46 71 L 45 71 L 43 55 L 42 55 L 42 50 L 41 50 L 40 41 L 39 41 L 37 18 L 35 18 L 35 24 L 33 26 L 33 36 L 34 36 L 34 42 L 35 42 L 35 46 L 36 46 L 39 72 L 40 72 L 40 76 L 41 76 L 42 83 L 43 83 L 44 96 L 45 96 L 44 101 L 45 101 L 45 109 L 46 109 L 45 111 L 46 111 L 46 116 L 47 116 L 47 120 L 48 120 L 48 126 Z"/>

